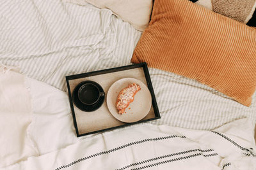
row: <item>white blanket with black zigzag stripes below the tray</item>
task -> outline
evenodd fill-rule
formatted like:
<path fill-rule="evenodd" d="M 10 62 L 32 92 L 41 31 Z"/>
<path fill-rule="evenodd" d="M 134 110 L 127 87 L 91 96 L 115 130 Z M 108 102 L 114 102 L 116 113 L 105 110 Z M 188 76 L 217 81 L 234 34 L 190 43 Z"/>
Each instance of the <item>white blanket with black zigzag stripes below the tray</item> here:
<path fill-rule="evenodd" d="M 214 131 L 134 125 L 3 169 L 255 169 L 252 127 L 248 119 Z"/>

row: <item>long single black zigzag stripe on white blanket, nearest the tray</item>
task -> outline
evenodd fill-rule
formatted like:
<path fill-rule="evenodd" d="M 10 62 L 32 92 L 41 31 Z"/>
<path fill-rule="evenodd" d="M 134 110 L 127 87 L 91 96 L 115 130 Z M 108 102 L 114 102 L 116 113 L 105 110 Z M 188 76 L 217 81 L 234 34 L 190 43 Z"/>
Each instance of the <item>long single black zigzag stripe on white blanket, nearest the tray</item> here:
<path fill-rule="evenodd" d="M 95 153 L 95 154 L 93 154 L 93 155 L 90 155 L 90 156 L 87 156 L 87 157 L 83 157 L 83 158 L 81 158 L 81 159 L 77 159 L 77 160 L 75 160 L 74 162 L 71 162 L 70 164 L 67 164 L 67 165 L 65 165 L 65 166 L 57 167 L 55 170 L 60 170 L 60 169 L 66 168 L 66 167 L 74 166 L 75 164 L 77 164 L 77 163 L 79 163 L 79 162 L 82 162 L 82 161 L 84 161 L 84 160 L 91 159 L 91 158 L 97 157 L 97 156 L 99 156 L 99 155 L 105 155 L 105 154 L 108 154 L 108 153 L 111 153 L 111 152 L 115 152 L 115 151 L 117 151 L 117 150 L 124 149 L 124 148 L 126 148 L 126 147 L 128 147 L 128 146 L 138 145 L 138 144 L 141 144 L 141 143 L 146 143 L 146 142 L 148 142 L 148 141 L 160 141 L 160 140 L 172 139 L 172 138 L 186 138 L 186 136 L 172 135 L 172 136 L 164 136 L 164 137 L 159 137 L 159 138 L 148 138 L 148 139 L 143 139 L 143 140 L 140 140 L 140 141 L 134 141 L 134 142 L 127 143 L 127 144 L 125 144 L 125 145 L 122 145 L 122 146 L 113 148 L 113 149 L 108 150 L 108 151 Z"/>

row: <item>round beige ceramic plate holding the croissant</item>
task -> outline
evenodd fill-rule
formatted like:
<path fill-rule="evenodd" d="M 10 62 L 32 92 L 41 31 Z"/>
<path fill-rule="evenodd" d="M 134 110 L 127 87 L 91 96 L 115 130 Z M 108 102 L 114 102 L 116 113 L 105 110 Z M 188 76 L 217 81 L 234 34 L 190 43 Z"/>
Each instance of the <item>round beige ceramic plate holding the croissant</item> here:
<path fill-rule="evenodd" d="M 129 106 L 125 109 L 125 113 L 120 115 L 118 114 L 115 106 L 117 96 L 122 89 L 131 83 L 140 85 L 141 90 L 135 94 L 134 101 L 132 101 L 132 103 L 130 103 Z M 115 83 L 113 83 L 113 85 L 111 85 L 109 88 L 107 94 L 107 104 L 108 109 L 113 117 L 122 122 L 131 123 L 141 120 L 148 114 L 148 111 L 151 108 L 152 98 L 148 87 L 140 80 L 135 78 L 122 78 L 118 81 L 115 81 Z"/>

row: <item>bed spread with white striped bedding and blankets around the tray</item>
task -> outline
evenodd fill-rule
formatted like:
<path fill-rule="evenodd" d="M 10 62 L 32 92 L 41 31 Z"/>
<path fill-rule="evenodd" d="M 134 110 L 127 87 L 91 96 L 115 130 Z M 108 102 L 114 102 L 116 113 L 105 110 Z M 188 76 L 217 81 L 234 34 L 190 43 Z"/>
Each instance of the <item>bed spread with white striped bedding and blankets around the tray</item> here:
<path fill-rule="evenodd" d="M 246 107 L 152 67 L 161 119 L 77 138 L 65 76 L 131 64 L 142 32 L 88 3 L 5 1 L 0 16 L 0 80 L 17 80 L 0 97 L 20 85 L 29 103 L 10 122 L 1 103 L 0 169 L 256 168 L 256 94 Z"/>

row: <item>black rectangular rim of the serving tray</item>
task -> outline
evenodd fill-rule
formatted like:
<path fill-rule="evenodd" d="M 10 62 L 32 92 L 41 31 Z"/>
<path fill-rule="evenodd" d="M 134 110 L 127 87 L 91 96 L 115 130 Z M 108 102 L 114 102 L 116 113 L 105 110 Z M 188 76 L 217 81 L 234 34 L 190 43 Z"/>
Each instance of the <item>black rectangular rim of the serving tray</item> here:
<path fill-rule="evenodd" d="M 118 72 L 118 71 L 124 71 L 124 70 L 134 69 L 134 68 L 138 68 L 138 67 L 143 67 L 143 71 L 144 71 L 144 74 L 145 74 L 145 79 L 147 81 L 148 90 L 150 91 L 150 94 L 151 94 L 151 97 L 152 97 L 152 106 L 153 106 L 153 110 L 154 110 L 154 113 L 155 113 L 156 117 L 148 118 L 147 120 L 140 120 L 138 122 L 125 123 L 124 125 L 109 127 L 109 128 L 106 128 L 106 129 L 100 129 L 98 131 L 79 134 L 79 131 L 78 131 L 78 128 L 77 128 L 77 122 L 76 122 L 76 114 L 75 114 L 74 106 L 73 106 L 72 94 L 71 94 L 71 91 L 70 91 L 69 80 L 75 80 L 75 79 L 79 79 L 79 78 L 86 78 L 88 76 L 97 76 L 99 74 L 108 74 L 108 73 L 113 73 L 113 72 Z M 148 72 L 147 62 L 141 62 L 139 64 L 131 64 L 131 65 L 121 66 L 121 67 L 113 67 L 113 68 L 109 68 L 109 69 L 102 69 L 102 70 L 98 70 L 98 71 L 91 71 L 91 72 L 81 73 L 81 74 L 73 74 L 73 75 L 65 76 L 65 78 L 66 78 L 67 89 L 68 89 L 68 100 L 69 100 L 69 104 L 70 104 L 70 109 L 72 111 L 72 117 L 73 117 L 74 127 L 76 129 L 77 137 L 86 136 L 88 134 L 95 134 L 95 133 L 98 133 L 98 132 L 109 131 L 109 130 L 117 129 L 117 128 L 120 128 L 120 127 L 127 127 L 129 125 L 140 124 L 140 123 L 143 123 L 143 122 L 148 122 L 150 120 L 156 120 L 156 119 L 161 118 L 160 113 L 159 113 L 159 109 L 158 109 L 158 106 L 157 106 L 157 102 L 156 102 L 156 96 L 154 94 L 154 89 L 153 89 L 152 82 L 151 82 L 151 79 L 150 79 L 150 74 Z"/>

